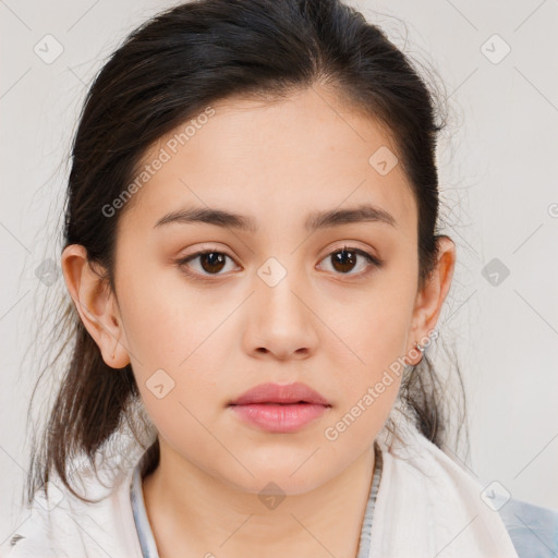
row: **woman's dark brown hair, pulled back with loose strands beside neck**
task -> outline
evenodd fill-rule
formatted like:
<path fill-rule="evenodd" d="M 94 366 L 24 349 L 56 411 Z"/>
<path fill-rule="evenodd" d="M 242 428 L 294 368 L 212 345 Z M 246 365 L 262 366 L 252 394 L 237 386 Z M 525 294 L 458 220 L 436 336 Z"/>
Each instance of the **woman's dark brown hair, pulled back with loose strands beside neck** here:
<path fill-rule="evenodd" d="M 132 182 L 148 148 L 217 100 L 272 101 L 315 84 L 375 119 L 393 138 L 416 199 L 423 286 L 438 255 L 435 151 L 444 122 L 436 121 L 435 95 L 405 54 L 338 0 L 201 0 L 162 12 L 134 31 L 100 70 L 83 106 L 72 145 L 64 247 L 85 246 L 116 292 L 116 234 L 126 205 L 113 217 L 102 208 Z M 81 497 L 66 475 L 73 457 L 84 454 L 94 463 L 97 450 L 125 424 L 141 438 L 131 365 L 110 368 L 73 302 L 64 296 L 59 308 L 57 339 L 65 336 L 65 343 L 49 366 L 68 344 L 71 357 L 61 371 L 39 448 L 34 440 L 29 501 L 52 471 Z M 403 377 L 400 395 L 420 430 L 441 447 L 449 416 L 426 353 Z M 157 438 L 150 451 L 155 463 Z"/>

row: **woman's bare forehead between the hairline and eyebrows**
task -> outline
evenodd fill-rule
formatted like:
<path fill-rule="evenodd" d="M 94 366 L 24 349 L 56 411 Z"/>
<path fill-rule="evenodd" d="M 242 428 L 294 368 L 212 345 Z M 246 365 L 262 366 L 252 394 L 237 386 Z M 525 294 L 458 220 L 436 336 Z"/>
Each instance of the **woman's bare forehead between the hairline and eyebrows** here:
<path fill-rule="evenodd" d="M 324 89 L 272 102 L 225 99 L 148 149 L 138 169 L 150 167 L 148 180 L 126 209 L 154 227 L 184 207 L 227 207 L 265 227 L 269 218 L 367 203 L 411 233 L 416 206 L 396 150 L 377 121 Z"/>

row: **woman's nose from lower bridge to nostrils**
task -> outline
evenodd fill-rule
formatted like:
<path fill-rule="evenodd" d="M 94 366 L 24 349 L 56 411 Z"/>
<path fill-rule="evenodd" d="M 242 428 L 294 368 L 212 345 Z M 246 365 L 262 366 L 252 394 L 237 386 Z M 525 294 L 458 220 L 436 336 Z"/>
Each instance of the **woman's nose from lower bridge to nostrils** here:
<path fill-rule="evenodd" d="M 275 286 L 264 280 L 256 284 L 256 292 L 248 301 L 248 323 L 243 339 L 246 352 L 281 361 L 314 354 L 319 319 L 295 274 L 287 272 Z"/>

